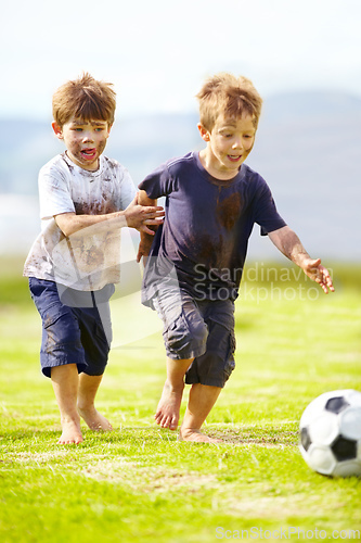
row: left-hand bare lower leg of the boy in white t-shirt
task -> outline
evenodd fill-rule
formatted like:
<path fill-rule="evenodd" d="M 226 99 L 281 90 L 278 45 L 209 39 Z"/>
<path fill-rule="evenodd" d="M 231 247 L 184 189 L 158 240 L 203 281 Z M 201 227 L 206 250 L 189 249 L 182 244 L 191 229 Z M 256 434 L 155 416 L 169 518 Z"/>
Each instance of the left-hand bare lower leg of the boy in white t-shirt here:
<path fill-rule="evenodd" d="M 57 443 L 81 443 L 80 417 L 77 411 L 79 376 L 76 364 L 51 368 L 51 382 L 61 413 L 62 435 Z"/>

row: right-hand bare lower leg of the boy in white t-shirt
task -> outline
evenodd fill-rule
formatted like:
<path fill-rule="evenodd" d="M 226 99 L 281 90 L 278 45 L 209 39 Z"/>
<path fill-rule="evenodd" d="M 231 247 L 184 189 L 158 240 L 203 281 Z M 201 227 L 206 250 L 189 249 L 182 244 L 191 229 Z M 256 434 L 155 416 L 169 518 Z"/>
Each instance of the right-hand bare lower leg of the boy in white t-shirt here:
<path fill-rule="evenodd" d="M 113 430 L 111 422 L 94 406 L 95 395 L 103 376 L 80 374 L 78 412 L 91 430 Z"/>

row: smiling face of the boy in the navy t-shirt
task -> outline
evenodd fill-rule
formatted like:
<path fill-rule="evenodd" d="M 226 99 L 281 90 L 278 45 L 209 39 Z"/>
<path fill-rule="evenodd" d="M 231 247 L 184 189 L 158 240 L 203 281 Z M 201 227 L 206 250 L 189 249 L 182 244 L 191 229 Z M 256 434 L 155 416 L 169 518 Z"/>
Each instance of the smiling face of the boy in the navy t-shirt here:
<path fill-rule="evenodd" d="M 224 118 L 220 115 L 210 131 L 201 124 L 198 129 L 203 140 L 207 142 L 203 152 L 206 169 L 219 179 L 235 177 L 254 147 L 254 117 L 244 115 L 238 118 Z"/>

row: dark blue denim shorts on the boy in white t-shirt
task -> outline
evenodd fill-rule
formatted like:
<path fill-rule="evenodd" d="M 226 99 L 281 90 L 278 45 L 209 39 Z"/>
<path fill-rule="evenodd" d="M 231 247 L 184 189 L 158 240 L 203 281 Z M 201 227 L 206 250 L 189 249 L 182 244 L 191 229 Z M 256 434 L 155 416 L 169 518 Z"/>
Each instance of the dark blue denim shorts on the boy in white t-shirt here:
<path fill-rule="evenodd" d="M 29 288 L 42 320 L 43 375 L 51 377 L 52 367 L 66 364 L 90 376 L 103 375 L 112 341 L 108 300 L 114 286 L 80 292 L 30 277 Z"/>

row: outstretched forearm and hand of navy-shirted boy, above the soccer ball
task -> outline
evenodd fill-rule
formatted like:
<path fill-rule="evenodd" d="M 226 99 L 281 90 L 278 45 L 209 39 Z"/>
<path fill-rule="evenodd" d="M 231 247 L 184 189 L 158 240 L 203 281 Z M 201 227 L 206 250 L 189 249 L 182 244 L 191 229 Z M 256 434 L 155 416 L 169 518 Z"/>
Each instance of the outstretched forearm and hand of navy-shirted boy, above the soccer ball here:
<path fill-rule="evenodd" d="M 298 236 L 288 226 L 269 232 L 268 236 L 279 251 L 299 266 L 310 279 L 318 282 L 326 294 L 328 289 L 334 292 L 330 273 L 321 266 L 321 258 L 311 258 Z"/>

